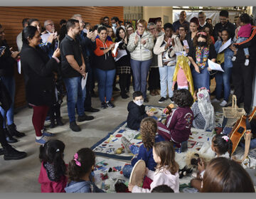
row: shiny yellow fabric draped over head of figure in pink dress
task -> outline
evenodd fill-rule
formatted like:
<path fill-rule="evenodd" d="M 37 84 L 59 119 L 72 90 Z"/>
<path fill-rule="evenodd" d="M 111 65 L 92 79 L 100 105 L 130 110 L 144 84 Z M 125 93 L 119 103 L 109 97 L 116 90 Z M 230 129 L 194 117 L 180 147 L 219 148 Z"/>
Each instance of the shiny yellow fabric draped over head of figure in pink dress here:
<path fill-rule="evenodd" d="M 188 65 L 188 58 L 185 57 L 184 55 L 180 55 L 178 56 L 178 60 L 177 60 L 177 63 L 176 63 L 176 68 L 174 70 L 174 77 L 173 77 L 173 81 L 176 82 L 177 81 L 177 75 L 178 75 L 178 65 L 181 65 L 185 75 L 186 75 L 186 79 L 188 80 L 188 87 L 189 87 L 189 91 L 191 92 L 191 95 L 193 96 L 193 93 L 194 93 L 194 87 L 193 87 L 193 77 L 192 77 L 192 74 L 191 74 L 191 69 Z"/>

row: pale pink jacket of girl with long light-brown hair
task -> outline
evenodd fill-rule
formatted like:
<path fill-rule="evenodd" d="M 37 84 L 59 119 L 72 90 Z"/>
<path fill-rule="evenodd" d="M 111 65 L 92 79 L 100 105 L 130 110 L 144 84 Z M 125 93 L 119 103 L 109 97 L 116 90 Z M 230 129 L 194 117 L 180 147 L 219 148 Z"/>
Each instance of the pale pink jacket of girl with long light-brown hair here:
<path fill-rule="evenodd" d="M 178 172 L 176 172 L 175 175 L 172 175 L 170 171 L 161 168 L 160 170 L 156 171 L 149 170 L 147 177 L 153 180 L 153 182 L 150 185 L 150 190 L 146 188 L 140 188 L 139 186 L 134 185 L 134 188 L 132 188 L 132 193 L 151 193 L 151 190 L 159 185 L 168 185 L 174 190 L 174 193 L 179 192 Z"/>

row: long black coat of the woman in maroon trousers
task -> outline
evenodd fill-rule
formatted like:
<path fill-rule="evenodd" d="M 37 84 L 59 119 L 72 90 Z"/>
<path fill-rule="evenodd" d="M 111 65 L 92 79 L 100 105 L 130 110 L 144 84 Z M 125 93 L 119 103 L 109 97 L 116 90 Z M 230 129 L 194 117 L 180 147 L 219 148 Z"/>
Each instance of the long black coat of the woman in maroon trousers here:
<path fill-rule="evenodd" d="M 54 58 L 49 58 L 38 46 L 33 48 L 23 43 L 21 68 L 24 74 L 28 103 L 41 106 L 55 102 L 53 70 L 58 70 L 57 61 Z"/>

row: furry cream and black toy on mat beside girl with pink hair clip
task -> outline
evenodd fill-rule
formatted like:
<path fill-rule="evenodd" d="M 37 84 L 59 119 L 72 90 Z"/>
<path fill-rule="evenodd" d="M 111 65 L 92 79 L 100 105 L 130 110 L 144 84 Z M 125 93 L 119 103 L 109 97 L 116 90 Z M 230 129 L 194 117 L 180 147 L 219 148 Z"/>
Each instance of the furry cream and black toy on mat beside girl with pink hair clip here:
<path fill-rule="evenodd" d="M 198 151 L 188 151 L 186 153 L 186 166 L 188 168 L 197 168 L 198 163 L 201 163 L 203 161 L 204 166 L 206 167 L 207 164 L 210 162 L 212 158 L 205 154 L 199 154 Z"/>

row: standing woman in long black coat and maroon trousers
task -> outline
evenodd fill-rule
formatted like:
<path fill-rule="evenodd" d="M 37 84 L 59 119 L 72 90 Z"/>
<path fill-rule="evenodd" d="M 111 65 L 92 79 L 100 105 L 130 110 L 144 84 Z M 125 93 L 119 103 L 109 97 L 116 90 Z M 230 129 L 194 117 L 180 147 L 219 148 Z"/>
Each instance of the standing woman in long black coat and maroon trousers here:
<path fill-rule="evenodd" d="M 53 134 L 43 131 L 43 124 L 49 106 L 55 102 L 53 70 L 58 70 L 60 49 L 57 48 L 52 58 L 38 46 L 41 41 L 38 29 L 27 26 L 22 31 L 23 47 L 21 65 L 26 86 L 26 100 L 33 107 L 33 127 L 36 131 L 36 142 L 45 144 Z"/>

